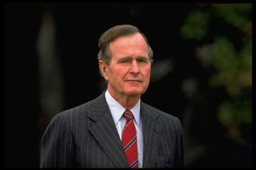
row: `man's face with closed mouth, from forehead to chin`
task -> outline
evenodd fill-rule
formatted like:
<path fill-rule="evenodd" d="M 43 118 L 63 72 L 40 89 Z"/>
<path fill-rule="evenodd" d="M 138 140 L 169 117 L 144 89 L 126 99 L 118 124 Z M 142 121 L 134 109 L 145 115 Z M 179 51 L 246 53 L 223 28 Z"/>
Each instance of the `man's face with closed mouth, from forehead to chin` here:
<path fill-rule="evenodd" d="M 140 96 L 150 83 L 148 46 L 141 34 L 117 38 L 110 43 L 110 65 L 102 75 L 108 90 L 118 97 Z"/>

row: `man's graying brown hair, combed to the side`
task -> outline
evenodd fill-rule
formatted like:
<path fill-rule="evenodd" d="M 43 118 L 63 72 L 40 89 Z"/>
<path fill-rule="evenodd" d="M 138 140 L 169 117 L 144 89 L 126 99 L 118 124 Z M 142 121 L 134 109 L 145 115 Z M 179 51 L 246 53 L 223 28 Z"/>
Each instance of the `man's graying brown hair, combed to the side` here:
<path fill-rule="evenodd" d="M 98 41 L 98 60 L 102 60 L 106 63 L 106 65 L 110 65 L 111 60 L 111 51 L 110 51 L 110 42 L 113 42 L 116 38 L 127 36 L 127 35 L 134 35 L 134 34 L 142 34 L 140 30 L 136 26 L 131 25 L 120 25 L 114 26 L 109 30 L 106 30 L 105 33 L 99 38 Z M 153 62 L 153 50 L 150 47 L 149 42 L 147 41 L 144 34 L 142 34 L 143 38 L 146 41 L 148 46 L 148 53 L 150 57 L 150 62 Z"/>

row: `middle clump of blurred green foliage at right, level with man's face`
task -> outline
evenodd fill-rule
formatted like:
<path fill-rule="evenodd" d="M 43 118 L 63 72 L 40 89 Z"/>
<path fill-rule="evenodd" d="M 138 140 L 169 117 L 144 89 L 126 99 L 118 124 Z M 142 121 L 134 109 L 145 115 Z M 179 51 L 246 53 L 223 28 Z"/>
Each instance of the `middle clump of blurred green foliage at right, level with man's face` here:
<path fill-rule="evenodd" d="M 236 52 L 227 38 L 217 37 L 213 44 L 212 65 L 216 73 L 210 77 L 210 85 L 224 86 L 231 97 L 238 97 L 252 85 L 252 53 L 245 46 Z"/>

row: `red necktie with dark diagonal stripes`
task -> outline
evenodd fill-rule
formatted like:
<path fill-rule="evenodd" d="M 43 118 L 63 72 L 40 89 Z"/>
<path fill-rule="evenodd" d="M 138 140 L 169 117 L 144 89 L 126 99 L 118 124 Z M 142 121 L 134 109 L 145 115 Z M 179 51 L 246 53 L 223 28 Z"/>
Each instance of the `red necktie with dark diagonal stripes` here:
<path fill-rule="evenodd" d="M 126 118 L 126 125 L 122 131 L 122 148 L 126 153 L 126 159 L 130 168 L 138 168 L 138 147 L 136 128 L 134 126 L 134 115 L 129 109 L 123 113 Z"/>

